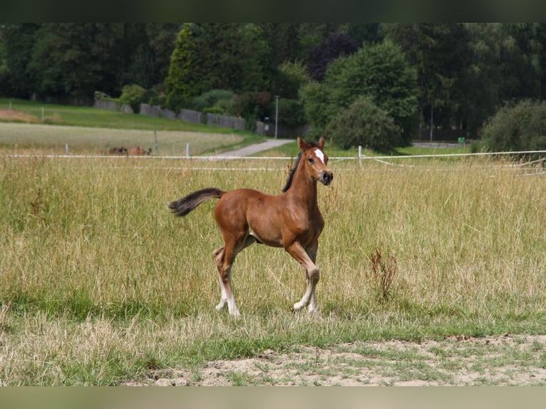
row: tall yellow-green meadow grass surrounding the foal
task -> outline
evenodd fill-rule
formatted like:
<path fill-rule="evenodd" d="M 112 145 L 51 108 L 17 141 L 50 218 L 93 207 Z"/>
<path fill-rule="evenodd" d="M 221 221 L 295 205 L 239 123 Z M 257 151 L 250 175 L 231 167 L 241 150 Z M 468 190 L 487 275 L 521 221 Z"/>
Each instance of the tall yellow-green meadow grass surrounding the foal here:
<path fill-rule="evenodd" d="M 214 310 L 214 202 L 182 219 L 166 203 L 202 187 L 279 193 L 288 160 L 196 163 L 0 159 L 1 383 L 108 385 L 302 343 L 545 331 L 538 170 L 332 161 L 334 182 L 319 186 L 323 319 L 289 312 L 303 269 L 255 245 L 233 269 L 235 321 Z M 386 296 L 377 251 L 396 262 Z"/>

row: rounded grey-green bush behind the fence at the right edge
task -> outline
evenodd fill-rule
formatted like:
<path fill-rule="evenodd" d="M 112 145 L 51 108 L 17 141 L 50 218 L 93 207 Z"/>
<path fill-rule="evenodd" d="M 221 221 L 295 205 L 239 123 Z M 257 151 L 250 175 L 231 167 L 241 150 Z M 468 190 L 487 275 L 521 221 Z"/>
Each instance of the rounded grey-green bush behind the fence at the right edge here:
<path fill-rule="evenodd" d="M 546 102 L 522 100 L 504 105 L 485 123 L 481 136 L 487 150 L 546 149 Z"/>

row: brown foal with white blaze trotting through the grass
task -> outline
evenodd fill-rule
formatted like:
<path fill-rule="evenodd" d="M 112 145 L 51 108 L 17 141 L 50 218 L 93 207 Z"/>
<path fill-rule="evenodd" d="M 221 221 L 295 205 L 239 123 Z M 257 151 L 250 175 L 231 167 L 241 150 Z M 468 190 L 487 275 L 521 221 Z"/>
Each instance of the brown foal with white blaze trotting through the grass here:
<path fill-rule="evenodd" d="M 316 284 L 319 268 L 315 264 L 319 236 L 324 219 L 317 203 L 317 181 L 329 185 L 334 178 L 327 167 L 324 137 L 319 143 L 306 143 L 297 138 L 300 149 L 282 194 L 267 195 L 252 189 L 225 192 L 215 187 L 198 190 L 168 204 L 175 216 L 182 217 L 210 199 L 220 199 L 215 206 L 215 219 L 224 245 L 212 253 L 220 275 L 221 311 L 227 305 L 232 316 L 238 317 L 232 289 L 232 264 L 237 254 L 251 244 L 283 247 L 306 271 L 307 290 L 292 311 L 304 306 L 316 313 Z"/>

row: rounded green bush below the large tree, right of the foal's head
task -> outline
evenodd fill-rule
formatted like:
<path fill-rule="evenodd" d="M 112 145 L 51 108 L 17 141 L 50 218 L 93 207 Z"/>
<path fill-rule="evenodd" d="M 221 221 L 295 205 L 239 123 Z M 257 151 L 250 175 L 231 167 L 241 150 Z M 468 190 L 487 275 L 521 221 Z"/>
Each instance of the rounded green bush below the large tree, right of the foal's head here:
<path fill-rule="evenodd" d="M 326 134 L 342 149 L 361 145 L 378 152 L 392 150 L 401 140 L 401 128 L 367 97 L 331 120 Z"/>

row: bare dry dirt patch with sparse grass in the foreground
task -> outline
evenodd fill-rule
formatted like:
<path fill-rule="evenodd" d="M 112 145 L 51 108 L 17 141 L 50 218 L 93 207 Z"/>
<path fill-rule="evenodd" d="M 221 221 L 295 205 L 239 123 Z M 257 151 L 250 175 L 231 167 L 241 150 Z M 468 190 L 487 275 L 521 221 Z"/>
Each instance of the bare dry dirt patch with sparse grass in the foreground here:
<path fill-rule="evenodd" d="M 545 385 L 546 336 L 344 343 L 152 371 L 126 385 Z"/>

